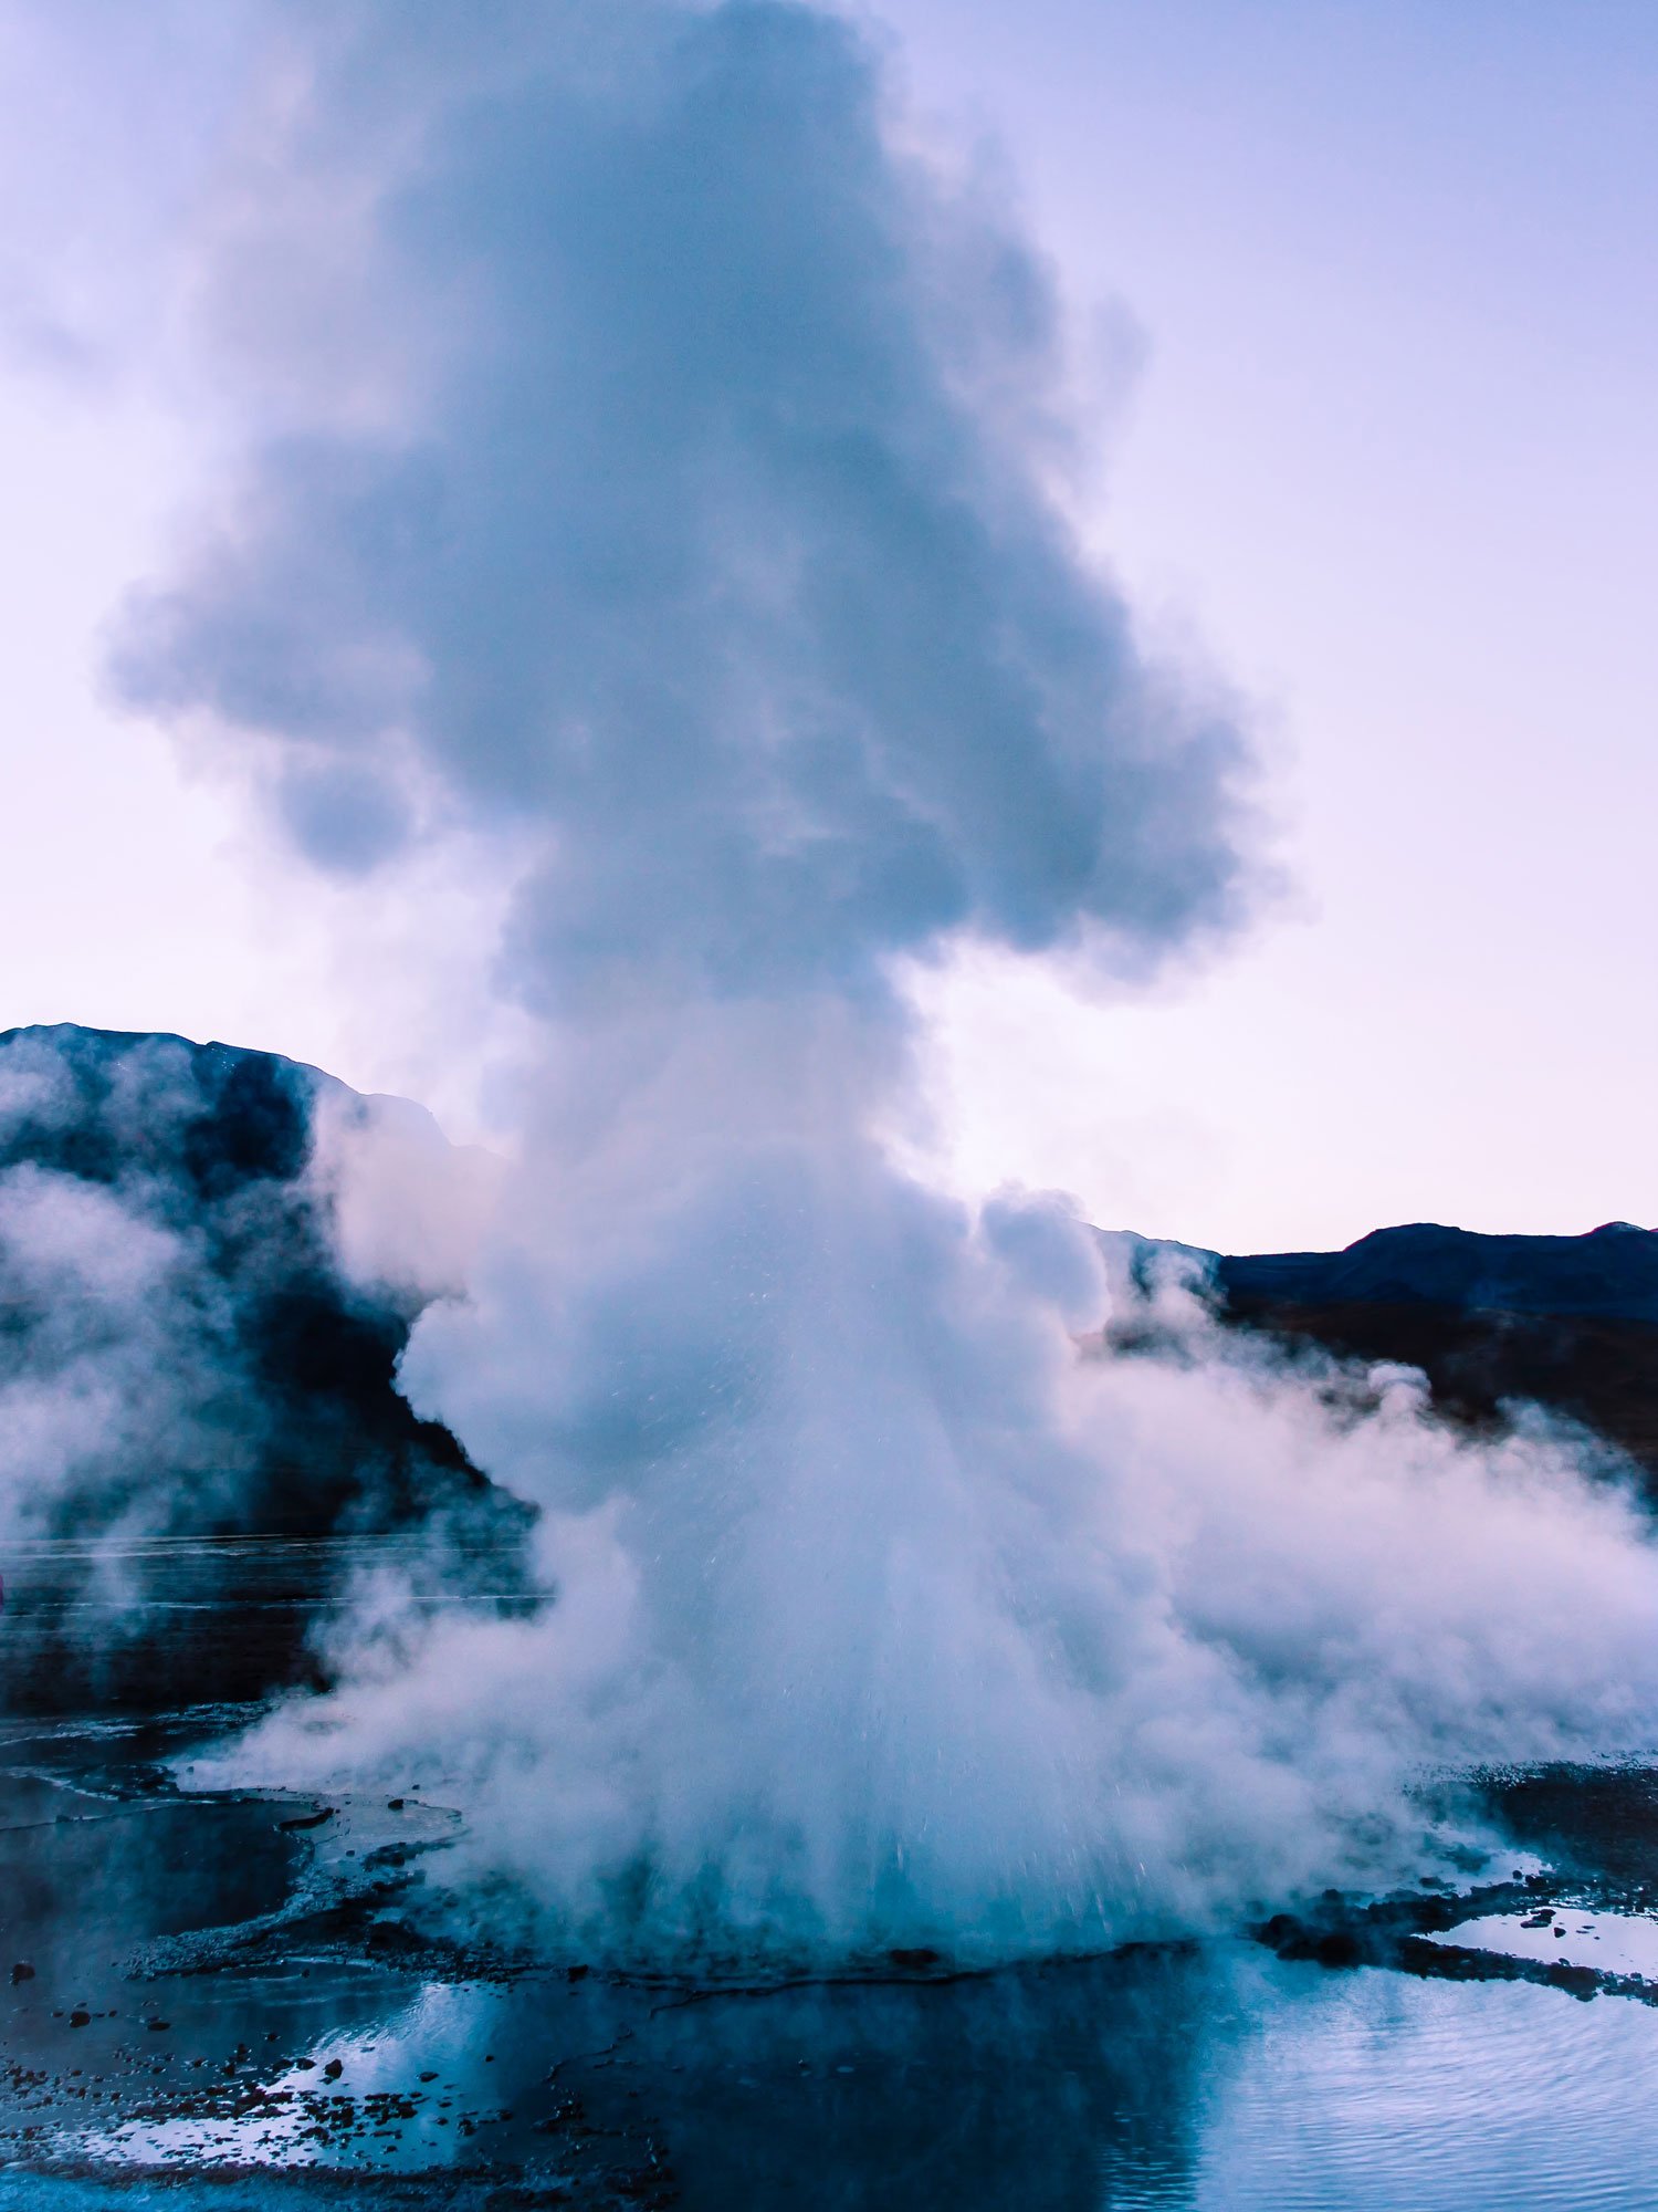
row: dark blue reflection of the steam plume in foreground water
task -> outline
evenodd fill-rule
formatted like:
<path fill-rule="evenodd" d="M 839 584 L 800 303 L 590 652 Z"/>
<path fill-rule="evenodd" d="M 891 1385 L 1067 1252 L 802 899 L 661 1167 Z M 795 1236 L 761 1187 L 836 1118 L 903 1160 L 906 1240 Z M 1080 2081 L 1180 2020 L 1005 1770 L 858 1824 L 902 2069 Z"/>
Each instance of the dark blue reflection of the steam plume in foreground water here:
<path fill-rule="evenodd" d="M 1227 2031 L 1214 1971 L 1154 1958 L 699 2002 L 566 2073 L 601 2121 L 650 2079 L 683 2201 L 707 2212 L 1174 2205 Z"/>

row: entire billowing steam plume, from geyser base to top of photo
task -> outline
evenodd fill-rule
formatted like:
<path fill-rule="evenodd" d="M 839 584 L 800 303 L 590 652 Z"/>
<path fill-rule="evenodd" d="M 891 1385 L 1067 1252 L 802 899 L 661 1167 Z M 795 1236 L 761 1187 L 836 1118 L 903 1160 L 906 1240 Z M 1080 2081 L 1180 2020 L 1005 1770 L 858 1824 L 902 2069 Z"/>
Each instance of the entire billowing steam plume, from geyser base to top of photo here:
<path fill-rule="evenodd" d="M 376 1646 L 243 1761 L 464 1776 L 478 1869 L 584 1944 L 836 1960 L 1384 1876 L 1424 1765 L 1649 1739 L 1616 1489 L 1404 1380 L 1326 1405 L 1178 1292 L 1180 1360 L 1090 1352 L 1063 1206 L 882 1148 L 900 960 L 1143 973 L 1249 872 L 1229 710 L 1061 520 L 1043 268 L 871 49 L 749 0 L 285 38 L 201 274 L 245 476 L 117 672 L 321 867 L 522 869 L 522 1164 L 402 1376 L 557 1601 Z"/>

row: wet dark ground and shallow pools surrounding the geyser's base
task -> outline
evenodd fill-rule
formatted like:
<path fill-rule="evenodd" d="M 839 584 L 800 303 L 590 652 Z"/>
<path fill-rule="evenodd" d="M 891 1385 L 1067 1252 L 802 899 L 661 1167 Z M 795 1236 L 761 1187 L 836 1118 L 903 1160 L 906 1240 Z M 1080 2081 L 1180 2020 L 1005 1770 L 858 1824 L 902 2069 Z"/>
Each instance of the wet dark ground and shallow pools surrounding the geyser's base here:
<path fill-rule="evenodd" d="M 433 1936 L 462 1805 L 179 1796 L 245 1719 L 0 1723 L 0 2212 L 1658 2203 L 1651 1774 L 1490 1778 L 1463 1893 L 710 1991 Z"/>

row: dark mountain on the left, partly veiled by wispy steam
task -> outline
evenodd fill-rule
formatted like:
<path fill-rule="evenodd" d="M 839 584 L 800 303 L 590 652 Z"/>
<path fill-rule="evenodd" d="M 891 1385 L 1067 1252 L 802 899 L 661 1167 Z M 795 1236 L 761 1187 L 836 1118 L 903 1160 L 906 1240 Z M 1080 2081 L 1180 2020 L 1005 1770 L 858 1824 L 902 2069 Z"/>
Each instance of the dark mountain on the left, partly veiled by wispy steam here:
<path fill-rule="evenodd" d="M 422 1555 L 464 1582 L 473 1553 L 522 1537 L 526 1509 L 393 1387 L 427 1292 L 343 1272 L 323 1115 L 347 1137 L 416 1117 L 442 1170 L 420 1108 L 272 1053 L 73 1024 L 0 1033 L 7 1703 L 62 1703 L 88 1650 L 104 1668 L 88 1697 L 119 1701 L 126 1683 L 148 1701 L 170 1666 L 166 1606 L 188 1604 L 203 1562 L 234 1564 L 237 1540 L 422 1531 Z M 31 1559 L 51 1562 L 33 1604 Z M 272 1597 L 263 1646 L 250 1632 L 195 1688 L 252 1694 L 305 1672 L 329 1595 L 312 1575 Z M 106 1632 L 84 1632 L 88 1608 Z"/>

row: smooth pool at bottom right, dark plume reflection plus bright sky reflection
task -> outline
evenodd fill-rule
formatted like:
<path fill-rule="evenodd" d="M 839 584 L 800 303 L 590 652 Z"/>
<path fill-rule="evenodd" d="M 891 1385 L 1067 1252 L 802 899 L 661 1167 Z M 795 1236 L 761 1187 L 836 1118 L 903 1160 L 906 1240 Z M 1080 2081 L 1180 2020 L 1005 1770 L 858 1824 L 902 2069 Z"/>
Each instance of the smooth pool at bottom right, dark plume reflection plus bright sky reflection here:
<path fill-rule="evenodd" d="M 1618 2000 L 1220 1953 L 672 2022 L 632 2079 L 683 2068 L 699 2212 L 1658 2203 L 1658 2017 Z M 581 2095 L 617 2112 L 628 2068 Z"/>

